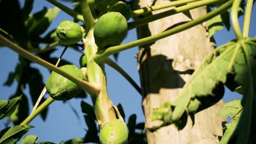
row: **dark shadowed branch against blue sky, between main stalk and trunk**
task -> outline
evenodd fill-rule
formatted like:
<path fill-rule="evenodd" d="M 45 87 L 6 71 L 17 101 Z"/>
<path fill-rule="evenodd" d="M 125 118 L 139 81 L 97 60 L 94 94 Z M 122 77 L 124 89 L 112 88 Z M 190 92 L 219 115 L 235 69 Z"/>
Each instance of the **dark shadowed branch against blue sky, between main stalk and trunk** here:
<path fill-rule="evenodd" d="M 127 81 L 129 81 L 131 83 L 131 85 L 137 90 L 137 92 L 139 94 L 142 95 L 141 93 L 141 88 L 137 85 L 137 83 L 131 78 L 130 75 L 128 75 L 117 63 L 115 63 L 114 61 L 112 61 L 112 59 L 107 58 L 105 60 L 105 63 L 108 64 L 110 67 L 112 67 L 113 69 L 117 70 L 121 75 L 123 75 L 125 77 L 125 79 Z"/>

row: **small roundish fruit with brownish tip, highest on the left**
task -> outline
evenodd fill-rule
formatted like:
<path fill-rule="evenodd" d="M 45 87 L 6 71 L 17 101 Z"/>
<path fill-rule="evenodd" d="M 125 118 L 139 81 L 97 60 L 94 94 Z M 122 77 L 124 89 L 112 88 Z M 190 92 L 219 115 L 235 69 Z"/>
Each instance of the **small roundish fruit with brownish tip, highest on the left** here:
<path fill-rule="evenodd" d="M 56 29 L 57 37 L 63 44 L 75 44 L 83 38 L 83 31 L 73 21 L 62 21 Z"/>

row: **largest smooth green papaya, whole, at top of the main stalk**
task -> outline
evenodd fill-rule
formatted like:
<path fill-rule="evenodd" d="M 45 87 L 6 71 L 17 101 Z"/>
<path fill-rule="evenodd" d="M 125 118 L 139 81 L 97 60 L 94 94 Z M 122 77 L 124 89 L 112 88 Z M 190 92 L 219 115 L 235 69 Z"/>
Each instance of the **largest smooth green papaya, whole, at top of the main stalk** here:
<path fill-rule="evenodd" d="M 118 12 L 102 15 L 94 27 L 95 44 L 99 49 L 119 45 L 127 34 L 127 21 Z"/>

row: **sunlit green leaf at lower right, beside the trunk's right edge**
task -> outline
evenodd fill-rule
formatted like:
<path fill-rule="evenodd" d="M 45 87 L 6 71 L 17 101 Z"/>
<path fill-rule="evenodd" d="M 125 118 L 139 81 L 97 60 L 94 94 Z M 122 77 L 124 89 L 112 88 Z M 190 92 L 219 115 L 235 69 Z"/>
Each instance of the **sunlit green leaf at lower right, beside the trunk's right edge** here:
<path fill-rule="evenodd" d="M 231 122 L 226 123 L 225 127 L 223 128 L 224 134 L 222 136 L 222 139 L 220 140 L 220 144 L 228 143 L 230 137 L 234 133 L 237 124 L 240 120 L 242 113 L 242 105 L 241 105 L 241 99 L 235 99 L 231 100 L 225 105 L 223 105 L 222 109 L 220 109 L 219 115 L 222 115 L 224 117 L 231 116 Z"/>

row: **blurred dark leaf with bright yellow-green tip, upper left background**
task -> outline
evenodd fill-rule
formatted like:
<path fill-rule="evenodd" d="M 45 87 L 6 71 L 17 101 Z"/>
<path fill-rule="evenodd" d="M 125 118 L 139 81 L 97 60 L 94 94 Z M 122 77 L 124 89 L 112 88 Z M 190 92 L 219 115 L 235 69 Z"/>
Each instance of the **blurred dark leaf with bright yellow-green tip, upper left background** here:
<path fill-rule="evenodd" d="M 38 13 L 30 15 L 26 20 L 27 33 L 30 38 L 38 37 L 38 35 L 42 34 L 50 26 L 59 11 L 60 9 L 57 7 L 48 10 L 44 8 Z"/>

